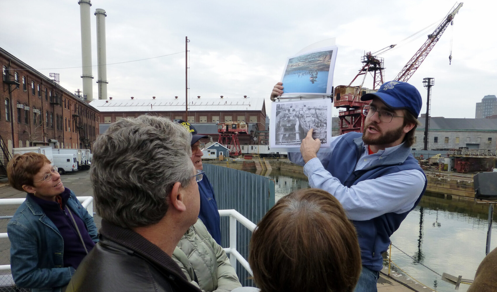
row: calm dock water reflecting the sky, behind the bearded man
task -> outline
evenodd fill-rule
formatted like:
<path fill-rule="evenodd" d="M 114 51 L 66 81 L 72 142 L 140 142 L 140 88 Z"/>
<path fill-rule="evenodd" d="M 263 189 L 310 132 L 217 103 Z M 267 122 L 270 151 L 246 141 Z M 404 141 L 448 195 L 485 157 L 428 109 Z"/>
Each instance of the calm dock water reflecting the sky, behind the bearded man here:
<path fill-rule="evenodd" d="M 268 176 L 275 181 L 276 200 L 309 186 L 302 173 L 273 170 Z M 429 269 L 440 275 L 448 273 L 473 279 L 485 257 L 487 242 L 488 204 L 447 197 L 426 193 L 391 237 L 392 243 L 402 250 L 392 247 L 392 261 L 410 277 L 439 292 L 452 292 L 455 286 L 442 281 Z M 492 235 L 491 250 L 497 247 L 497 216 Z M 400 272 L 394 265 L 392 269 Z M 459 291 L 468 288 L 469 285 L 461 284 Z"/>

